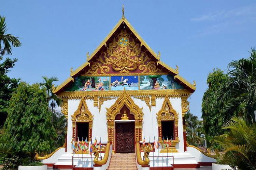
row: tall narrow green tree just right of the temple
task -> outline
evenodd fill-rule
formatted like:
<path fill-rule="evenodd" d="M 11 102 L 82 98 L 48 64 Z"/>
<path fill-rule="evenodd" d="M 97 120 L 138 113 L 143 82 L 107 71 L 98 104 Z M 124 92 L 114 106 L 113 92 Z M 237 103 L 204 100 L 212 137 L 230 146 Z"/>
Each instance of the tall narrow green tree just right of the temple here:
<path fill-rule="evenodd" d="M 204 92 L 202 99 L 202 119 L 207 146 L 211 147 L 211 139 L 223 133 L 224 115 L 218 107 L 219 90 L 227 81 L 228 76 L 221 69 L 213 69 L 207 78 L 209 88 Z M 217 146 L 214 146 L 215 148 Z"/>

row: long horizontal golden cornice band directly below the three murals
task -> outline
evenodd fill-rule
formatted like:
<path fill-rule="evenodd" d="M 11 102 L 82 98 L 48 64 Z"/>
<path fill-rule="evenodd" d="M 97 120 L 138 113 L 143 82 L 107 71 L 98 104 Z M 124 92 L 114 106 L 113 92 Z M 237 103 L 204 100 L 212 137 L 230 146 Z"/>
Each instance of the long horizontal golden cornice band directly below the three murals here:
<path fill-rule="evenodd" d="M 94 96 L 99 97 L 118 97 L 121 96 L 123 90 L 113 91 L 63 91 L 58 96 L 68 99 L 81 99 L 83 96 L 87 96 L 86 99 L 93 99 Z M 167 89 L 167 90 L 127 90 L 126 93 L 129 96 L 151 96 L 151 106 L 155 106 L 155 98 L 158 97 L 182 97 L 190 96 L 191 91 L 187 89 Z"/>

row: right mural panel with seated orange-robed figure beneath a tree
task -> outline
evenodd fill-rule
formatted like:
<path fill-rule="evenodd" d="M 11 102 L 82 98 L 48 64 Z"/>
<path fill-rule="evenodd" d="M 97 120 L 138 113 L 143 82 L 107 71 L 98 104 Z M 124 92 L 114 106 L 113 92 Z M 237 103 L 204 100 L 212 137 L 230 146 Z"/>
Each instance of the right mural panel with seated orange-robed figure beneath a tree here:
<path fill-rule="evenodd" d="M 182 85 L 174 81 L 174 76 L 168 75 L 141 75 L 140 89 L 184 89 Z"/>

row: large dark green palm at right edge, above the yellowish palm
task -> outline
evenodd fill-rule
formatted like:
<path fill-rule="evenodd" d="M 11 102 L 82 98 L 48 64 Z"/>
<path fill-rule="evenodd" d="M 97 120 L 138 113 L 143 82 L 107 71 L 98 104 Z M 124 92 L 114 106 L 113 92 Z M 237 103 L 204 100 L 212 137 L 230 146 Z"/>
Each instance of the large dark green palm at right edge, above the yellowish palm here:
<path fill-rule="evenodd" d="M 225 115 L 225 120 L 233 115 L 245 114 L 253 122 L 256 110 L 256 50 L 251 50 L 249 58 L 232 61 L 228 77 L 219 97 L 219 108 Z"/>

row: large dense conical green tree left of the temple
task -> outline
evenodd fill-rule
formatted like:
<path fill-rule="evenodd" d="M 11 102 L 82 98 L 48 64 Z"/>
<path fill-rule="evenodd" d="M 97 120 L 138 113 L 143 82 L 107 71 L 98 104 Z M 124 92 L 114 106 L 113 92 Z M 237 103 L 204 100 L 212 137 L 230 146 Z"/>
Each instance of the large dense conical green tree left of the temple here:
<path fill-rule="evenodd" d="M 9 102 L 4 127 L 8 148 L 16 153 L 48 152 L 54 146 L 55 130 L 48 111 L 47 95 L 39 84 L 21 82 Z"/>

